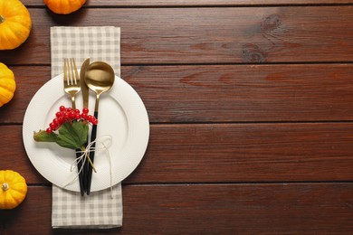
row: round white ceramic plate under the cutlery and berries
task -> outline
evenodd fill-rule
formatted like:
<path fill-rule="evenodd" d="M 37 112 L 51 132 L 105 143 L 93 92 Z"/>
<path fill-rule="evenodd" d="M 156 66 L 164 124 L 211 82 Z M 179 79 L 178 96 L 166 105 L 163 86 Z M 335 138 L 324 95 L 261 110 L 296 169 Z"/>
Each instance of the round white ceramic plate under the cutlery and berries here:
<path fill-rule="evenodd" d="M 77 108 L 81 109 L 81 104 L 80 93 L 76 98 Z M 90 91 L 90 114 L 93 114 L 94 104 L 95 96 Z M 77 170 L 72 171 L 74 151 L 56 143 L 33 140 L 33 132 L 45 130 L 61 105 L 71 107 L 71 100 L 63 92 L 62 75 L 59 75 L 36 92 L 25 112 L 24 148 L 43 177 L 59 187 L 79 192 L 78 179 L 71 183 L 77 178 Z M 96 151 L 94 165 L 97 173 L 92 174 L 91 192 L 109 188 L 131 174 L 145 154 L 149 137 L 147 110 L 138 93 L 119 77 L 115 77 L 114 86 L 100 96 L 98 119 L 97 138 L 111 136 L 112 142 L 109 154 L 103 149 Z M 99 146 L 97 143 L 96 147 Z"/>

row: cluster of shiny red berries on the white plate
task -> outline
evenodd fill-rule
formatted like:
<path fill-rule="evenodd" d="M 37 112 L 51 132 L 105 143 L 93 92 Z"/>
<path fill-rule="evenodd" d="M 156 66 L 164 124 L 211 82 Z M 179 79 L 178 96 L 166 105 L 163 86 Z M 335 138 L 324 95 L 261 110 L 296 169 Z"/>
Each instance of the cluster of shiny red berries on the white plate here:
<path fill-rule="evenodd" d="M 89 115 L 89 109 L 83 108 L 82 112 L 80 109 L 72 109 L 61 106 L 59 111 L 55 114 L 56 118 L 52 119 L 52 122 L 49 124 L 49 127 L 46 129 L 47 133 L 52 133 L 59 129 L 63 123 L 72 122 L 73 120 L 84 120 L 91 122 L 92 125 L 97 125 L 98 120 L 92 115 Z"/>

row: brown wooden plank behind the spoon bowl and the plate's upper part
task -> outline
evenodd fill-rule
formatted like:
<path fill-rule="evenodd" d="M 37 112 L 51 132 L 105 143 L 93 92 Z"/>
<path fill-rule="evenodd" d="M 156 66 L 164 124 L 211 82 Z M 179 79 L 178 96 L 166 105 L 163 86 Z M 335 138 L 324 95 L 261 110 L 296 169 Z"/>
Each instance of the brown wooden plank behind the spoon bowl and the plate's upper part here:
<path fill-rule="evenodd" d="M 10 67 L 17 90 L 0 123 L 22 123 L 50 67 Z M 352 120 L 353 64 L 123 66 L 152 123 Z"/>

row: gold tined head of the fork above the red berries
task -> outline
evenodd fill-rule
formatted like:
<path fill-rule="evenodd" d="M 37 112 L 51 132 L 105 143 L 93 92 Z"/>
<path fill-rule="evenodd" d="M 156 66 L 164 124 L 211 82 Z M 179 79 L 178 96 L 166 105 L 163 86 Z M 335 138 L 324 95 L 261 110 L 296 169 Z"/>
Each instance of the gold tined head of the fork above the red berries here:
<path fill-rule="evenodd" d="M 73 58 L 63 59 L 63 89 L 72 98 L 72 108 L 76 108 L 75 96 L 81 90 L 81 80 Z"/>

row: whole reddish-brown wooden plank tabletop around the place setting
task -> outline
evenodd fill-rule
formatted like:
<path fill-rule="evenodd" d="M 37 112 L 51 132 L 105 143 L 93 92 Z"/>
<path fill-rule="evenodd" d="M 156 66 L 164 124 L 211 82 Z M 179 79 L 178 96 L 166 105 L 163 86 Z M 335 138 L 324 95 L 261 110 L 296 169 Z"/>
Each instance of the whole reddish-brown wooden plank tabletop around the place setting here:
<path fill-rule="evenodd" d="M 31 35 L 0 52 L 17 82 L 0 168 L 29 190 L 0 234 L 353 233 L 353 1 L 89 0 L 70 15 L 22 2 Z M 52 184 L 24 151 L 57 25 L 121 27 L 121 76 L 148 109 L 120 229 L 52 230 Z"/>

